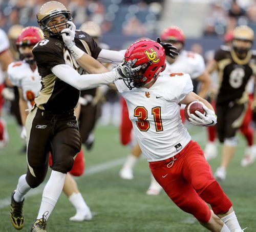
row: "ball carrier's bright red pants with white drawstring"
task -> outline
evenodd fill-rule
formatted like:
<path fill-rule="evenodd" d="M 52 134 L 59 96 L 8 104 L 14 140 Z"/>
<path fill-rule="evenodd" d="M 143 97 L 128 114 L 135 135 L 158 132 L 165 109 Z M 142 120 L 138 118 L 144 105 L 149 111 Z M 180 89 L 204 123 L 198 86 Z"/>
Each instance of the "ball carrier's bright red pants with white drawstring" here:
<path fill-rule="evenodd" d="M 207 223 L 210 219 L 207 203 L 215 214 L 225 213 L 232 206 L 195 141 L 190 141 L 174 158 L 150 162 L 150 168 L 170 199 L 200 222 Z"/>

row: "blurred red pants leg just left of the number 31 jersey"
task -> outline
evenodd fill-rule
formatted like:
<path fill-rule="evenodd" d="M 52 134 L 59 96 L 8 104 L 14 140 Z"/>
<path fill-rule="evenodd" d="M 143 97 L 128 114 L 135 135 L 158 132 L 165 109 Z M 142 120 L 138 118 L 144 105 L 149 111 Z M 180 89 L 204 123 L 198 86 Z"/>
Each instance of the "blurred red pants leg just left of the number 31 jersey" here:
<path fill-rule="evenodd" d="M 132 141 L 133 124 L 129 118 L 129 112 L 124 98 L 121 98 L 121 115 L 120 140 L 121 144 L 127 145 Z"/>

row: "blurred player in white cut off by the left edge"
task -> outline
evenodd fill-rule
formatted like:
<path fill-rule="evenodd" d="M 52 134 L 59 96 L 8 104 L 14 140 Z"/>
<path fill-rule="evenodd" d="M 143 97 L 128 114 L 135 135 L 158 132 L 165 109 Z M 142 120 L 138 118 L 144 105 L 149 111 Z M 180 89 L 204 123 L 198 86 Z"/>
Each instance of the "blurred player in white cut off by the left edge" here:
<path fill-rule="evenodd" d="M 13 61 L 11 52 L 9 50 L 9 40 L 6 33 L 0 29 L 0 148 L 3 148 L 7 145 L 9 136 L 6 127 L 5 120 L 1 117 L 2 108 L 4 105 L 4 95 L 5 95 L 5 84 L 6 86 L 11 87 L 9 79 L 6 77 L 6 70 L 8 65 Z"/>

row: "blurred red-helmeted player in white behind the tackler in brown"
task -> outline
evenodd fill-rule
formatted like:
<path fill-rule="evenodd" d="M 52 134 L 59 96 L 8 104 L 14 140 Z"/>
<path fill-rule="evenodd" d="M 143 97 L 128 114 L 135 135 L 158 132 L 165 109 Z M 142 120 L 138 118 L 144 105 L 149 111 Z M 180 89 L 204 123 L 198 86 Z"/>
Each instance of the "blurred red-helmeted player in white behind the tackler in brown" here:
<path fill-rule="evenodd" d="M 28 111 L 34 106 L 34 99 L 41 89 L 41 76 L 38 73 L 32 49 L 34 45 L 43 38 L 44 36 L 41 30 L 37 27 L 27 27 L 22 30 L 16 40 L 16 48 L 22 60 L 13 62 L 8 66 L 10 81 L 18 88 L 19 92 L 19 110 L 23 123 L 23 130 L 20 137 L 24 140 L 27 138 L 25 121 Z M 49 163 L 51 166 L 51 157 Z M 67 173 L 63 187 L 63 192 L 76 209 L 76 215 L 70 218 L 71 221 L 92 219 L 91 211 L 79 192 L 75 179 L 72 177 L 72 175 L 82 175 L 83 171 L 84 158 L 82 151 L 80 151 L 71 171 Z"/>

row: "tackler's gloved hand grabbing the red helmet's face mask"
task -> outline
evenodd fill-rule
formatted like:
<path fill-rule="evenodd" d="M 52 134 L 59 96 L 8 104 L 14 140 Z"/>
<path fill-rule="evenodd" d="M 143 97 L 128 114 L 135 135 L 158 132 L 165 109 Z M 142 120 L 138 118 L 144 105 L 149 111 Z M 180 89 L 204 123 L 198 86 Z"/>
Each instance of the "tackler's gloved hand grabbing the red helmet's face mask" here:
<path fill-rule="evenodd" d="M 117 65 L 116 70 L 121 78 L 131 78 L 136 72 L 141 69 L 141 65 L 133 67 L 137 59 L 125 62 L 125 59 Z"/>

